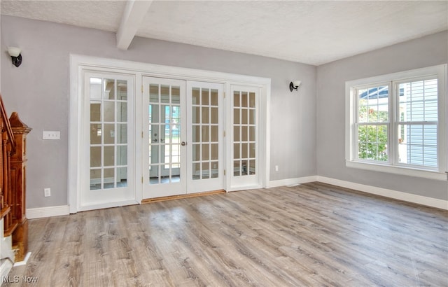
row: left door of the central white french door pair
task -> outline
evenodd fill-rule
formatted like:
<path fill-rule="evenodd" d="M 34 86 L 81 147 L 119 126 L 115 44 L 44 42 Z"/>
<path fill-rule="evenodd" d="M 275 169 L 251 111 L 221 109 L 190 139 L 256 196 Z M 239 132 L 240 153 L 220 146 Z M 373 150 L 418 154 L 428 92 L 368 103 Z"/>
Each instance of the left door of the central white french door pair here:
<path fill-rule="evenodd" d="M 186 193 L 185 81 L 144 77 L 143 198 Z"/>

